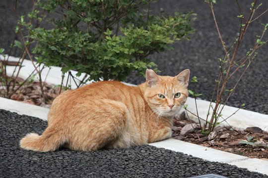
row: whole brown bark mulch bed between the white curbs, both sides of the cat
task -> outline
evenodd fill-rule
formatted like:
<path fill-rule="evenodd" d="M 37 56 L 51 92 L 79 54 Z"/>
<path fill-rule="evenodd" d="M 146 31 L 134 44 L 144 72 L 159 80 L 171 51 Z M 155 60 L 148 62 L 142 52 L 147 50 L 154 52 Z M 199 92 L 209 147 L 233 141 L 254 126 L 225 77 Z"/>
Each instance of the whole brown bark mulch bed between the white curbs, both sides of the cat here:
<path fill-rule="evenodd" d="M 19 86 L 22 79 L 18 79 L 14 89 Z M 11 86 L 13 81 L 11 82 Z M 45 101 L 41 95 L 41 88 L 38 82 L 26 83 L 10 96 L 10 99 L 50 108 L 52 101 L 60 93 L 60 87 L 44 85 Z M 0 97 L 4 97 L 0 83 Z M 10 87 L 10 90 L 14 90 Z M 234 154 L 247 156 L 250 158 L 268 159 L 268 133 L 260 128 L 247 128 L 241 131 L 232 127 L 215 127 L 209 135 L 201 134 L 199 124 L 188 120 L 183 112 L 181 116 L 173 119 L 172 128 L 175 139 L 187 141 L 202 146 L 227 151 Z"/>

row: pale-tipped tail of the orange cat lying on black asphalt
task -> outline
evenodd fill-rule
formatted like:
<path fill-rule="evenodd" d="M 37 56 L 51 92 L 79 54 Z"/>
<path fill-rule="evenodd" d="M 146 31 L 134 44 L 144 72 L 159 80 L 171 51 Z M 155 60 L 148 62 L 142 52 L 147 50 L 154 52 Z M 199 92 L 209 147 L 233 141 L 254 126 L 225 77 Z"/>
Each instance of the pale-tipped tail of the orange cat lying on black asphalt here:
<path fill-rule="evenodd" d="M 60 132 L 48 127 L 42 135 L 27 134 L 20 140 L 20 147 L 33 151 L 55 151 L 66 142 Z"/>

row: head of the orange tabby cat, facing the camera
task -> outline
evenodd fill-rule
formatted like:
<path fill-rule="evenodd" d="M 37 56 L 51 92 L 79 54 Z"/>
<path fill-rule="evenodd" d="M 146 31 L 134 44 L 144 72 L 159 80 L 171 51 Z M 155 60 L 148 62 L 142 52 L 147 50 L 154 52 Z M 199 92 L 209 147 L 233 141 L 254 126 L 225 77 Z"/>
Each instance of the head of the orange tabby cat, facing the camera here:
<path fill-rule="evenodd" d="M 149 107 L 163 117 L 175 116 L 188 97 L 189 77 L 189 69 L 175 77 L 159 76 L 147 69 L 144 98 Z"/>

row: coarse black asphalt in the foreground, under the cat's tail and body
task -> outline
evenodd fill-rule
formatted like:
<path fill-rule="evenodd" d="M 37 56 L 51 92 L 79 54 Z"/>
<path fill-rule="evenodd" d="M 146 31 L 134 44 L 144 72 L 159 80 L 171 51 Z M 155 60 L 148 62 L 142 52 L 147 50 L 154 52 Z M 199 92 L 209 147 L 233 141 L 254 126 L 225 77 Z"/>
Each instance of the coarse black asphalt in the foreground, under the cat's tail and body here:
<path fill-rule="evenodd" d="M 204 161 L 167 149 L 143 145 L 96 152 L 22 150 L 19 140 L 41 134 L 47 122 L 0 109 L 0 177 L 187 178 L 217 174 L 229 178 L 268 178 L 247 169 Z M 216 155 L 215 155 L 216 156 Z"/>

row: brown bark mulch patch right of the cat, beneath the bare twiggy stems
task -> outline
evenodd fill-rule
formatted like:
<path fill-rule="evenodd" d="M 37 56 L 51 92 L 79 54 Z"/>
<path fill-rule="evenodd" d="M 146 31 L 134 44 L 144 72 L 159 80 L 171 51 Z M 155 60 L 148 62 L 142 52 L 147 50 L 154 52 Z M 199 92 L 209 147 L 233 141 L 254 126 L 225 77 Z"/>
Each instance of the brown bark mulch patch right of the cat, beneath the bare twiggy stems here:
<path fill-rule="evenodd" d="M 261 128 L 249 127 L 242 131 L 229 126 L 217 126 L 209 135 L 204 135 L 201 134 L 199 124 L 188 120 L 184 113 L 174 118 L 173 122 L 172 137 L 175 139 L 250 158 L 268 160 L 268 132 Z M 185 128 L 189 132 L 185 132 Z"/>

